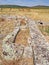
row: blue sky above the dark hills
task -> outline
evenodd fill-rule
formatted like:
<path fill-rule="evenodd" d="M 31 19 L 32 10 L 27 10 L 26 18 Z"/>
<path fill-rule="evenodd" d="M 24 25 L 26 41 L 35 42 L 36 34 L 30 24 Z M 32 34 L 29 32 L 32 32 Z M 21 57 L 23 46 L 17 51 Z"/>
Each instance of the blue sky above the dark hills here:
<path fill-rule="evenodd" d="M 35 5 L 47 5 L 49 6 L 49 0 L 0 0 L 0 5 L 21 5 L 21 6 L 35 6 Z"/>

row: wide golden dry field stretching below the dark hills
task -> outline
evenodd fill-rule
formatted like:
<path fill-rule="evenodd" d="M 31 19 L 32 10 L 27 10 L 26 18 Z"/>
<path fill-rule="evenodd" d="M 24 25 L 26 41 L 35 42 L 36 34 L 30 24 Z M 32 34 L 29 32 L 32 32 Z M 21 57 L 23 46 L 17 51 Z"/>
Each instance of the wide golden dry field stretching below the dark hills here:
<path fill-rule="evenodd" d="M 3 8 L 1 14 L 27 16 L 34 20 L 49 21 L 49 9 L 29 9 L 29 8 Z"/>

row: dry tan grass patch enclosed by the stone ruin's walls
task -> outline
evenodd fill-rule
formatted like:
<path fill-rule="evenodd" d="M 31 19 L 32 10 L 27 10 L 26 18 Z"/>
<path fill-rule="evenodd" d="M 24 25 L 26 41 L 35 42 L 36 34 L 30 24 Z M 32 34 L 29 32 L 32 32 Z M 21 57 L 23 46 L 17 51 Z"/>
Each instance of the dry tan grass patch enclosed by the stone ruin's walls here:
<path fill-rule="evenodd" d="M 17 37 L 16 37 L 15 43 L 23 44 L 23 45 L 27 46 L 27 45 L 28 45 L 27 40 L 28 40 L 28 37 L 29 37 L 29 36 L 30 36 L 30 35 L 29 35 L 29 29 L 21 30 L 21 31 L 18 33 Z"/>

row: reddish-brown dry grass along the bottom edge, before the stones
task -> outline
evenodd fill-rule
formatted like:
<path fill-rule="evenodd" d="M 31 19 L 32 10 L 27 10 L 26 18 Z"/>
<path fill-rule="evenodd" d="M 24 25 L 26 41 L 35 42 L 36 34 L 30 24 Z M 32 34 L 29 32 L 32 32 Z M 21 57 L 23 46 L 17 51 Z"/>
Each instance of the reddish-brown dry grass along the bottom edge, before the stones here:
<path fill-rule="evenodd" d="M 2 65 L 34 65 L 32 58 L 22 58 L 20 60 L 6 61 L 4 60 Z"/>

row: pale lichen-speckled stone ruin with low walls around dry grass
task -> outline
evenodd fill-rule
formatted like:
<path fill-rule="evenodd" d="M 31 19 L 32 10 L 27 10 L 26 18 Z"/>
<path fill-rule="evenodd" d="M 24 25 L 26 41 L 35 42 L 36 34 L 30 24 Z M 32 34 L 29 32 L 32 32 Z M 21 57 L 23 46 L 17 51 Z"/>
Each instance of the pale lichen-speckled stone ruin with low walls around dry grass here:
<path fill-rule="evenodd" d="M 38 29 L 35 21 L 21 16 L 17 16 L 17 18 L 17 25 L 13 32 L 9 33 L 2 41 L 1 57 L 6 60 L 8 65 L 8 62 L 13 62 L 13 60 L 15 60 L 13 65 L 49 65 L 49 43 Z M 24 19 L 25 25 L 21 25 L 20 22 Z M 15 43 L 15 37 L 20 29 L 25 30 L 27 27 L 30 33 L 28 45 Z"/>

